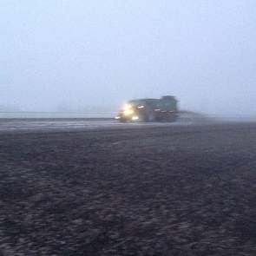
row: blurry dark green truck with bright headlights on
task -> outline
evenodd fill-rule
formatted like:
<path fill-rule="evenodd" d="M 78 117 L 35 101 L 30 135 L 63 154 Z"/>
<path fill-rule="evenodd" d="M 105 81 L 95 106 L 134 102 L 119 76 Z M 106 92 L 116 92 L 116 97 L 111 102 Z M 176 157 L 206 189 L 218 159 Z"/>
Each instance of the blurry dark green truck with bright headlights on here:
<path fill-rule="evenodd" d="M 173 95 L 160 99 L 137 99 L 128 101 L 115 117 L 122 122 L 176 121 L 178 101 Z"/>

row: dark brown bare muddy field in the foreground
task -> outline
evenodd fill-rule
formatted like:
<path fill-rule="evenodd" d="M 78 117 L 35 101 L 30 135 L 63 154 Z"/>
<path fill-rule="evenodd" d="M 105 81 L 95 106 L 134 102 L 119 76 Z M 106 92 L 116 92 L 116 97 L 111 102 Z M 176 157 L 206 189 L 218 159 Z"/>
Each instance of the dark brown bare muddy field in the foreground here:
<path fill-rule="evenodd" d="M 256 124 L 0 134 L 0 255 L 256 255 Z"/>

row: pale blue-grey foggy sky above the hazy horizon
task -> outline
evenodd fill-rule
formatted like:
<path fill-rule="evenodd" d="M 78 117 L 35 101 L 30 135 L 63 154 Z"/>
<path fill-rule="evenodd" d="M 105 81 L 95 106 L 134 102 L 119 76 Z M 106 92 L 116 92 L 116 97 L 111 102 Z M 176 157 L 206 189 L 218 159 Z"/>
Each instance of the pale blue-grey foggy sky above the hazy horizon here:
<path fill-rule="evenodd" d="M 255 0 L 2 0 L 0 105 L 256 115 Z"/>

